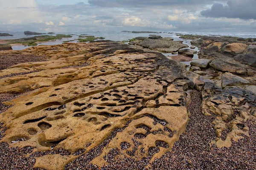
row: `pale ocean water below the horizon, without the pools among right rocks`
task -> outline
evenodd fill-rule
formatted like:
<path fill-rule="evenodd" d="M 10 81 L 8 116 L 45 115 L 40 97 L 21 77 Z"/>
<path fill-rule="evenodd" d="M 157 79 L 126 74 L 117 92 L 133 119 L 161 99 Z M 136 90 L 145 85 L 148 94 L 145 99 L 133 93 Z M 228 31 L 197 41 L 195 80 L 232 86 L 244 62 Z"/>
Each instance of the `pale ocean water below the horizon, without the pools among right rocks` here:
<path fill-rule="evenodd" d="M 23 32 L 9 32 L 9 34 L 13 34 L 13 37 L 0 37 L 1 40 L 5 39 L 18 39 L 18 38 L 24 38 L 24 37 L 34 37 L 33 35 L 26 36 L 23 34 Z M 80 32 L 80 33 L 74 33 L 74 32 L 65 32 L 65 33 L 59 33 L 59 34 L 75 34 L 72 35 L 71 38 L 63 38 L 62 40 L 56 40 L 56 41 L 50 41 L 50 42 L 42 42 L 38 45 L 57 45 L 61 44 L 64 41 L 67 40 L 75 40 L 73 42 L 77 42 L 76 39 L 78 39 L 79 35 L 81 34 L 88 34 L 93 35 L 95 37 L 105 37 L 105 40 L 113 40 L 113 41 L 123 41 L 123 40 L 129 40 L 134 37 L 148 37 L 150 34 L 156 34 L 156 33 L 131 33 L 131 32 L 118 32 L 118 31 L 112 31 L 112 32 L 104 32 L 104 31 L 87 31 L 87 32 Z M 207 36 L 233 36 L 233 37 L 242 37 L 242 38 L 256 38 L 256 34 L 248 33 L 248 34 L 227 34 L 227 33 L 198 33 L 198 32 L 167 32 L 167 33 L 159 33 L 157 35 L 160 35 L 162 37 L 172 37 L 175 41 L 182 40 L 180 39 L 176 34 L 197 34 L 197 35 L 207 35 Z M 47 34 L 46 34 L 47 35 Z M 54 36 L 55 34 L 51 34 Z M 190 44 L 190 40 L 183 40 L 184 44 Z M 12 47 L 13 50 L 22 50 L 25 48 L 29 48 L 28 46 L 24 45 L 15 45 Z M 197 49 L 196 49 L 197 50 Z M 172 55 L 172 54 L 166 54 L 166 55 Z"/>

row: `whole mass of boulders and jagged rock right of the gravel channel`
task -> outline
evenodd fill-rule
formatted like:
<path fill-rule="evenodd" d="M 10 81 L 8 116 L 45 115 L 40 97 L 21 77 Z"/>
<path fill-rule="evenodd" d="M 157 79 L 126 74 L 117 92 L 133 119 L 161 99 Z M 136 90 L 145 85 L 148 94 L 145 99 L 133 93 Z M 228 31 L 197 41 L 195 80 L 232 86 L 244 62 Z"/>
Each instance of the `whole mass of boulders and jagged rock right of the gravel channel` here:
<path fill-rule="evenodd" d="M 201 109 L 205 115 L 215 116 L 216 138 L 211 143 L 218 147 L 230 147 L 233 141 L 249 136 L 244 123 L 256 118 L 256 45 L 252 42 L 250 38 L 209 36 L 191 42 L 201 48 L 200 59 L 212 60 L 201 72 L 191 70 L 210 80 L 202 88 Z M 193 61 L 191 65 L 195 65 Z"/>

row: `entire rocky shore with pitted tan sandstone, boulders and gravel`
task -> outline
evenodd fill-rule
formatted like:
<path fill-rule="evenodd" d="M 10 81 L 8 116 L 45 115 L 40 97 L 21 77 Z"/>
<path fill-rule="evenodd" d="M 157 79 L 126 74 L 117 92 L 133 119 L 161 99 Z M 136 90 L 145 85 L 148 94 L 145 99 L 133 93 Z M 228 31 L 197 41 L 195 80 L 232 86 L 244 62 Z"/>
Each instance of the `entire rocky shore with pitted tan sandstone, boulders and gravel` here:
<path fill-rule="evenodd" d="M 181 36 L 1 51 L 0 167 L 255 169 L 255 40 Z"/>

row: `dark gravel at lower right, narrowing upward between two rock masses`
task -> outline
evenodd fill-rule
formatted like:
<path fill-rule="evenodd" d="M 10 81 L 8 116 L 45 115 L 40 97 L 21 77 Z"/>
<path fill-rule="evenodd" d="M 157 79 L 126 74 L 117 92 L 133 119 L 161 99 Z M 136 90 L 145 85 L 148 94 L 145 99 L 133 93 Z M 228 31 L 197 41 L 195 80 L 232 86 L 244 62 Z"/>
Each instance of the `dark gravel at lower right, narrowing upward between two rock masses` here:
<path fill-rule="evenodd" d="M 256 169 L 256 122 L 245 124 L 250 128 L 250 137 L 244 136 L 232 146 L 221 149 L 209 146 L 215 138 L 215 130 L 211 125 L 214 116 L 204 116 L 201 113 L 201 94 L 195 92 L 192 96 L 189 111 L 191 113 L 186 132 L 180 136 L 172 148 L 152 164 L 155 170 L 221 170 L 221 169 Z"/>

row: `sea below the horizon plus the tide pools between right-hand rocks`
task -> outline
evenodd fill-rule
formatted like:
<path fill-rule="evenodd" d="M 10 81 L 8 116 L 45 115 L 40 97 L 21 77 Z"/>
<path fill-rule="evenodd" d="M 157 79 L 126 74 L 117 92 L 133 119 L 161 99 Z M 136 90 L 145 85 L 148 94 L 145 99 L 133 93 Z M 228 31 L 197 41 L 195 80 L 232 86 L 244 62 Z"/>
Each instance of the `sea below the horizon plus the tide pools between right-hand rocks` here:
<path fill-rule="evenodd" d="M 14 35 L 13 37 L 0 37 L 0 39 L 18 39 L 18 38 L 25 38 L 25 37 L 34 37 L 35 35 L 29 35 L 26 36 L 24 35 L 23 32 L 7 32 L 9 34 Z M 246 34 L 230 34 L 230 33 L 211 33 L 211 32 L 158 32 L 158 33 L 132 33 L 132 32 L 127 32 L 127 31 L 87 31 L 87 32 L 64 32 L 64 33 L 58 33 L 58 34 L 71 34 L 71 38 L 63 38 L 61 40 L 55 40 L 55 41 L 49 41 L 49 42 L 41 42 L 38 43 L 38 45 L 57 45 L 57 44 L 62 44 L 64 41 L 68 40 L 74 40 L 72 42 L 78 42 L 77 39 L 79 38 L 79 35 L 81 34 L 87 34 L 87 35 L 93 35 L 95 37 L 105 37 L 105 40 L 112 40 L 112 41 L 128 41 L 129 39 L 133 39 L 135 37 L 149 37 L 151 34 L 155 35 L 160 35 L 161 37 L 171 37 L 174 39 L 174 41 L 183 41 L 183 44 L 188 45 L 190 48 L 191 41 L 192 40 L 184 40 L 180 39 L 180 36 L 177 36 L 177 34 L 192 34 L 192 35 L 206 35 L 206 36 L 232 36 L 232 37 L 241 37 L 241 38 L 256 38 L 255 33 L 246 33 Z M 47 34 L 46 34 L 47 35 Z M 56 34 L 51 34 L 51 36 L 55 36 Z M 125 42 L 128 44 L 128 42 Z M 29 48 L 28 46 L 24 45 L 14 45 L 12 46 L 13 50 L 23 50 Z M 200 51 L 198 47 L 195 47 L 193 49 L 197 52 Z M 167 58 L 172 59 L 171 57 L 177 56 L 178 54 L 172 54 L 172 53 L 162 53 L 165 55 Z M 192 59 L 198 59 L 198 54 L 194 54 L 194 57 Z M 181 62 L 186 65 L 187 70 L 190 68 L 190 62 Z M 200 76 L 200 80 L 204 82 L 213 82 L 212 77 L 208 76 Z"/>

